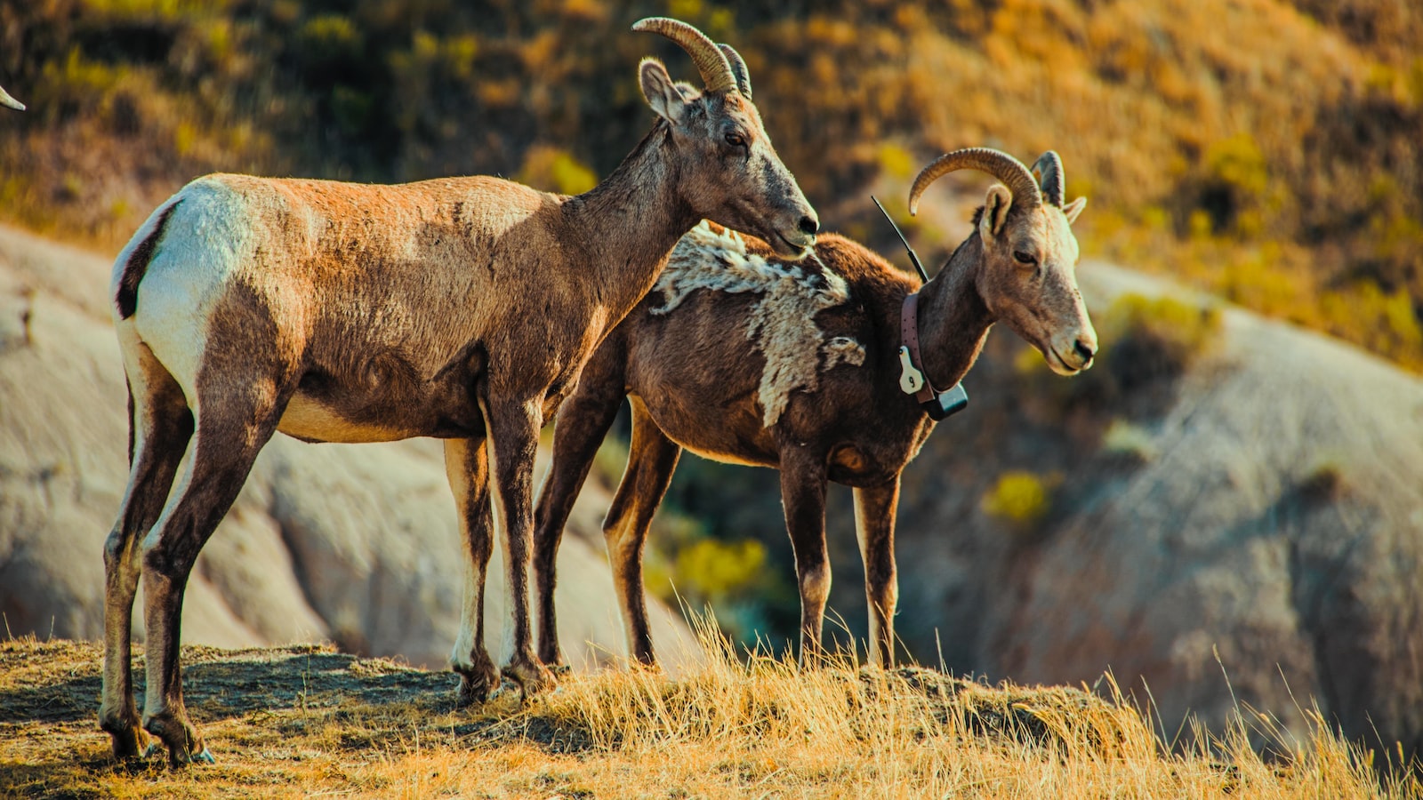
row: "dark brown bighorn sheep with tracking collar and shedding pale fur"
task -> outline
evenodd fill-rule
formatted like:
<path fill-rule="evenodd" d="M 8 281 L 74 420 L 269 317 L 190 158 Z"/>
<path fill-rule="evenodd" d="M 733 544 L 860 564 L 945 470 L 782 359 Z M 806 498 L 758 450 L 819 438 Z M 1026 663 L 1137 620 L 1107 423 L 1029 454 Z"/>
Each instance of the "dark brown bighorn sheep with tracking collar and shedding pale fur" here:
<path fill-rule="evenodd" d="M 958 383 L 998 320 L 1062 374 L 1087 369 L 1097 349 L 1077 290 L 1077 241 L 1070 229 L 1086 201 L 1063 206 L 1057 155 L 1039 159 L 1039 186 L 1006 154 L 951 152 L 919 174 L 911 211 L 935 178 L 963 168 L 1002 184 L 988 189 L 975 231 L 922 286 L 835 235 L 821 236 L 815 246 L 822 272 L 810 262 L 785 265 L 764 243 L 710 228 L 682 239 L 653 292 L 583 369 L 558 419 L 554 464 L 535 511 L 534 575 L 545 663 L 562 660 L 554 557 L 625 394 L 632 401 L 632 446 L 603 535 L 629 653 L 653 660 L 643 542 L 682 448 L 689 448 L 717 461 L 780 468 L 800 582 L 803 658 L 820 651 L 830 592 L 825 481 L 854 487 L 871 652 L 881 665 L 892 662 L 899 474 L 935 426 L 899 386 L 906 296 L 918 290 L 924 344 L 918 369 L 931 384 Z"/>

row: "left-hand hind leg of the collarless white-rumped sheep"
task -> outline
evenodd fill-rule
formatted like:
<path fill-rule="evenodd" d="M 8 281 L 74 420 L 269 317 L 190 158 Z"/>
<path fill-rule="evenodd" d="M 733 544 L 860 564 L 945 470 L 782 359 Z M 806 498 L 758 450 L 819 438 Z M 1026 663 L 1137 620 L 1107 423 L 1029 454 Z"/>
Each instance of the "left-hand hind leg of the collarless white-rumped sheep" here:
<path fill-rule="evenodd" d="M 137 545 L 162 512 L 192 437 L 192 411 L 182 389 L 147 346 L 128 344 L 129 478 L 118 520 L 104 542 L 104 689 L 98 712 L 115 759 L 148 756 L 159 747 L 149 742 L 134 705 L 131 631 L 141 574 Z"/>

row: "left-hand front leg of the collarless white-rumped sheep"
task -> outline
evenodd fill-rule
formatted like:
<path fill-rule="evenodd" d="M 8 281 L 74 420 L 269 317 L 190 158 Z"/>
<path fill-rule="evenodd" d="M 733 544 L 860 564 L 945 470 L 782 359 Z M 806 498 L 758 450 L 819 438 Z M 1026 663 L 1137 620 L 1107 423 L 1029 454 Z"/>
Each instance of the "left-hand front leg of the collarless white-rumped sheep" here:
<path fill-rule="evenodd" d="M 490 458 L 484 438 L 445 440 L 445 475 L 458 507 L 464 540 L 464 604 L 460 638 L 450 653 L 450 668 L 460 675 L 457 703 L 482 703 L 498 683 L 490 651 L 484 648 L 484 581 L 494 551 L 494 517 L 490 514 Z"/>

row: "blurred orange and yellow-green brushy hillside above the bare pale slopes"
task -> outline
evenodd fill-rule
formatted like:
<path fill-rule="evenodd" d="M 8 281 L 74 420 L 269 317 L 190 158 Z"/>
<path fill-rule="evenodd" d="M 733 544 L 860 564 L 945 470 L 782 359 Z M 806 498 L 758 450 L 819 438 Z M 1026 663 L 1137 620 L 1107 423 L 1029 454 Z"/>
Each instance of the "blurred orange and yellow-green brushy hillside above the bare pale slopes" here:
<path fill-rule="evenodd" d="M 741 50 L 832 226 L 889 249 L 847 202 L 871 181 L 1050 147 L 1089 252 L 1423 369 L 1423 6 L 1397 0 L 9 4 L 30 111 L 0 125 L 0 218 L 112 249 L 211 169 L 576 191 L 650 124 L 639 57 L 692 77 L 628 31 L 657 13 Z"/>

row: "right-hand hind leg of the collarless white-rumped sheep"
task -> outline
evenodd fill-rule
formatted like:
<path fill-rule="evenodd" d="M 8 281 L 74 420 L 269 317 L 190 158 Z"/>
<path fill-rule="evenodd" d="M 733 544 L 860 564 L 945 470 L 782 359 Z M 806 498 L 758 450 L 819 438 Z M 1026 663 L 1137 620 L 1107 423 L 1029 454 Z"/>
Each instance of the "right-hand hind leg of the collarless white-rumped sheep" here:
<path fill-rule="evenodd" d="M 168 747 L 168 762 L 212 763 L 184 706 L 178 645 L 182 598 L 198 551 L 232 507 L 258 451 L 276 431 L 285 401 L 270 380 L 236 380 L 202 391 L 192 458 L 178 493 L 144 540 L 144 622 L 148 680 L 144 727 Z M 221 417 L 221 419 L 219 419 Z"/>

